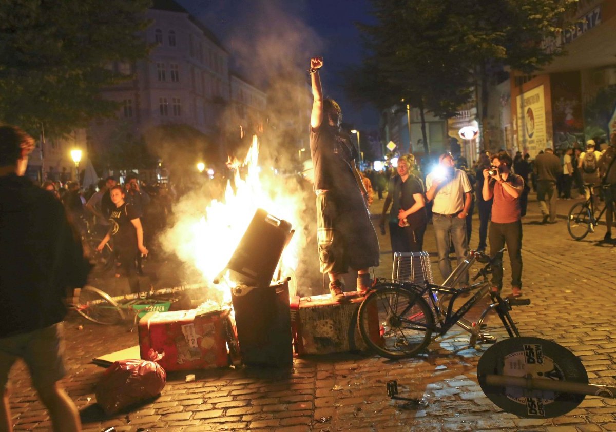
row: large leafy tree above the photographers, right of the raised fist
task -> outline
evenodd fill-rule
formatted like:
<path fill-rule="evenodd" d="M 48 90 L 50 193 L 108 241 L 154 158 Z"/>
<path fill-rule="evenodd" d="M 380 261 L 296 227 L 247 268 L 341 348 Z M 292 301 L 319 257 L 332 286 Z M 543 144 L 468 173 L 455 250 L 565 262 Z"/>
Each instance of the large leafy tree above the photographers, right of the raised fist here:
<path fill-rule="evenodd" d="M 372 0 L 372 4 L 377 23 L 359 25 L 367 54 L 349 81 L 355 88 L 348 90 L 370 102 L 404 98 L 419 108 L 425 130 L 423 111 L 442 118 L 455 114 L 469 102 L 473 87 L 483 82 L 482 89 L 486 88 L 488 65 L 509 65 L 530 73 L 561 54 L 546 52 L 542 42 L 558 36 L 577 0 Z M 380 95 L 360 93 L 375 83 Z M 487 100 L 487 92 L 482 98 Z M 424 145 L 427 151 L 425 132 Z"/>

